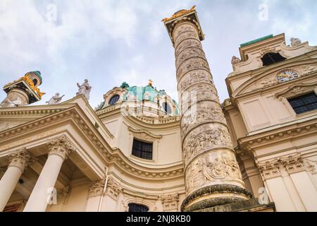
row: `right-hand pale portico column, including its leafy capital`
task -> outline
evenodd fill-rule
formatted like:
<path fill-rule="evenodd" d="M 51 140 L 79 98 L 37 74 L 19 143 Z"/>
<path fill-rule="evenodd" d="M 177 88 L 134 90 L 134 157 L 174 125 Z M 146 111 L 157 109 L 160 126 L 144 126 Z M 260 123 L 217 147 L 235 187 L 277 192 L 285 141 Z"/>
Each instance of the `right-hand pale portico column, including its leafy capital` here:
<path fill-rule="evenodd" d="M 24 212 L 45 212 L 51 200 L 51 191 L 54 189 L 61 166 L 68 154 L 75 150 L 66 136 L 58 137 L 48 142 L 49 157 L 42 169 L 37 184 L 27 201 Z"/>

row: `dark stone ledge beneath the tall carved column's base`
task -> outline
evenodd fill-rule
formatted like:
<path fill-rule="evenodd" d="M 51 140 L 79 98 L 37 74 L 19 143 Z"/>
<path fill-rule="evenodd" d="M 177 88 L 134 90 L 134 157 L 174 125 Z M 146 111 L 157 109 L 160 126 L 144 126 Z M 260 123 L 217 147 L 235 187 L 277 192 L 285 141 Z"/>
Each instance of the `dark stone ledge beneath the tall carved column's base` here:
<path fill-rule="evenodd" d="M 258 198 L 215 206 L 194 212 L 275 212 L 275 203 L 259 204 Z"/>

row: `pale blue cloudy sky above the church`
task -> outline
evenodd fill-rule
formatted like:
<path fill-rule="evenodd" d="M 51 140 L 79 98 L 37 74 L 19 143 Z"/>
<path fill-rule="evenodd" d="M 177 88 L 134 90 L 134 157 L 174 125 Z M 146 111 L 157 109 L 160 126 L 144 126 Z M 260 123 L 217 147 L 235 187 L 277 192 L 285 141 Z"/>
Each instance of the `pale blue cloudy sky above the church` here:
<path fill-rule="evenodd" d="M 299 37 L 317 45 L 316 0 L 0 0 L 0 85 L 41 71 L 46 95 L 39 105 L 56 92 L 72 98 L 87 78 L 96 107 L 123 81 L 152 79 L 177 99 L 174 52 L 161 19 L 193 5 L 221 100 L 241 43 L 285 32 L 287 44 Z"/>

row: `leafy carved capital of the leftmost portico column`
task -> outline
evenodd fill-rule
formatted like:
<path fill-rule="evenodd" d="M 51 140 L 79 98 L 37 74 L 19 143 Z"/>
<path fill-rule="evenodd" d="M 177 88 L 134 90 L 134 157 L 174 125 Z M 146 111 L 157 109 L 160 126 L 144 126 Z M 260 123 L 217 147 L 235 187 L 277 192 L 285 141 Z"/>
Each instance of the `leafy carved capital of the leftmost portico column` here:
<path fill-rule="evenodd" d="M 9 154 L 10 164 L 8 167 L 18 167 L 23 172 L 30 161 L 31 155 L 29 151 L 26 148 L 22 148 Z"/>

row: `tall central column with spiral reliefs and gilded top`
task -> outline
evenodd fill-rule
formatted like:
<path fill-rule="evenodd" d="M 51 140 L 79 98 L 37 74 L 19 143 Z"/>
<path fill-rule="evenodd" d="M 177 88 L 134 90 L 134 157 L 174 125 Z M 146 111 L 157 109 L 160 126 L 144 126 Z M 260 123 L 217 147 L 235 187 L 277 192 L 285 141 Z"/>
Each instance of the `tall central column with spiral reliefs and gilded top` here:
<path fill-rule="evenodd" d="M 182 151 L 187 198 L 194 211 L 251 197 L 244 189 L 235 150 L 201 40 L 194 7 L 163 20 L 175 48 L 181 106 Z"/>

